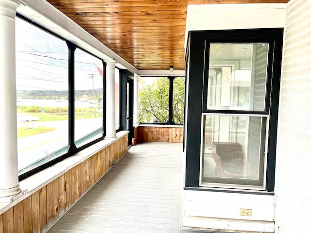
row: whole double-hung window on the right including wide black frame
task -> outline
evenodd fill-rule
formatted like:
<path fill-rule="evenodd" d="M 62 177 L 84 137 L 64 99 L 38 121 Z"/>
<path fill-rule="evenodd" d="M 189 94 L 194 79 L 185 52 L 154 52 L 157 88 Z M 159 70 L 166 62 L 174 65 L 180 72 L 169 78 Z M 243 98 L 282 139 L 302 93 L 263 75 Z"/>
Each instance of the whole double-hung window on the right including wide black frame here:
<path fill-rule="evenodd" d="M 274 190 L 282 33 L 191 32 L 186 186 Z"/>

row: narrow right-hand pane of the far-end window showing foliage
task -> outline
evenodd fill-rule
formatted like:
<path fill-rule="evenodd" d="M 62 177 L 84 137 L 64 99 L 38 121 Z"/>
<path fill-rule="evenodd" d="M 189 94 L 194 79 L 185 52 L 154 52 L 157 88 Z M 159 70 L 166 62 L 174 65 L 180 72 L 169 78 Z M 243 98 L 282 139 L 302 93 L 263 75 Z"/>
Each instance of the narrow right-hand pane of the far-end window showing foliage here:
<path fill-rule="evenodd" d="M 176 124 L 184 123 L 185 77 L 176 77 L 173 80 L 173 121 Z"/>

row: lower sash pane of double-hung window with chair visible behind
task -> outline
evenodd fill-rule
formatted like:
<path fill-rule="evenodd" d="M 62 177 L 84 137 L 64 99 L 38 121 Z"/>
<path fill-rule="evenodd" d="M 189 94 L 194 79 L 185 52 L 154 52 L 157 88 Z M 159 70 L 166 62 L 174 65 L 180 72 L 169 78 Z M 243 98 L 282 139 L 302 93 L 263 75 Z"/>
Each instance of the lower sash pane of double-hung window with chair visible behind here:
<path fill-rule="evenodd" d="M 266 120 L 205 115 L 202 183 L 262 186 Z"/>

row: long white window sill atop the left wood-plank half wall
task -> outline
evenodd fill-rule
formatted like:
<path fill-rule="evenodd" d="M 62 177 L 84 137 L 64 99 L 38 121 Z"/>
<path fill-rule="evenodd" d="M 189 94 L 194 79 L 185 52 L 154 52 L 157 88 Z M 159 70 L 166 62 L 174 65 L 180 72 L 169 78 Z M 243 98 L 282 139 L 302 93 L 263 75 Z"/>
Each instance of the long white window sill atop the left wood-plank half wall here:
<path fill-rule="evenodd" d="M 81 150 L 78 153 L 70 156 L 69 158 L 55 164 L 54 166 L 48 167 L 35 175 L 26 178 L 25 180 L 19 182 L 21 188 L 21 193 L 6 197 L 0 198 L 0 215 L 5 211 L 10 209 L 12 206 L 16 205 L 19 201 L 24 200 L 38 191 L 40 188 L 44 187 L 48 183 L 52 182 L 54 179 L 63 175 L 65 172 L 70 170 L 72 167 L 80 164 L 85 161 L 87 158 L 96 154 L 98 151 L 103 150 L 105 147 L 112 144 L 114 141 L 118 140 L 122 136 L 126 135 L 128 131 L 121 131 L 116 133 L 116 138 L 104 139 L 85 150 Z"/>

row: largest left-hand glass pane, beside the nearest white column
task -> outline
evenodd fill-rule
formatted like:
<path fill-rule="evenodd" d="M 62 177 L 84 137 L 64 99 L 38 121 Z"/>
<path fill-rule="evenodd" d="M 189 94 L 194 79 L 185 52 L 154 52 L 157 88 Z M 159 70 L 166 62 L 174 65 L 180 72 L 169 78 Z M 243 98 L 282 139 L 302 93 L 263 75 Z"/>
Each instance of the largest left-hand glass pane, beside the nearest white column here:
<path fill-rule="evenodd" d="M 68 149 L 68 47 L 16 19 L 18 170 L 22 174 Z"/>

